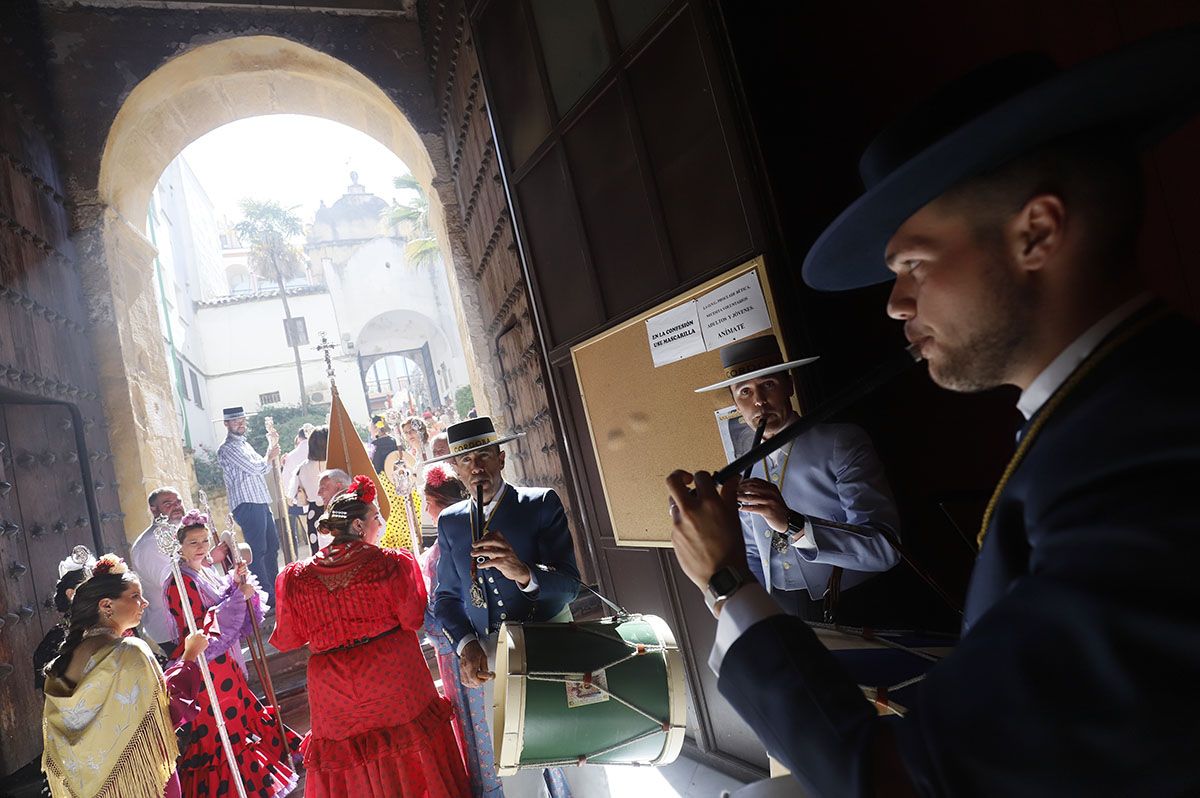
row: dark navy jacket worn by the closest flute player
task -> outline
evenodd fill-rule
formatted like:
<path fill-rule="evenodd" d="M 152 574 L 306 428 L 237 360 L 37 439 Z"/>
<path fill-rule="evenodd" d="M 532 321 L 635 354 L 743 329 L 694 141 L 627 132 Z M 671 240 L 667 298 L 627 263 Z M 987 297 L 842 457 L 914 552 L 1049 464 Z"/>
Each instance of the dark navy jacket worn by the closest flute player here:
<path fill-rule="evenodd" d="M 882 722 L 923 794 L 1200 794 L 1198 491 L 1200 331 L 1166 317 L 1049 416 L 906 718 L 880 720 L 782 616 L 730 647 L 721 694 L 821 796 L 870 793 Z"/>

